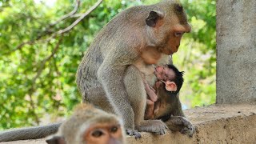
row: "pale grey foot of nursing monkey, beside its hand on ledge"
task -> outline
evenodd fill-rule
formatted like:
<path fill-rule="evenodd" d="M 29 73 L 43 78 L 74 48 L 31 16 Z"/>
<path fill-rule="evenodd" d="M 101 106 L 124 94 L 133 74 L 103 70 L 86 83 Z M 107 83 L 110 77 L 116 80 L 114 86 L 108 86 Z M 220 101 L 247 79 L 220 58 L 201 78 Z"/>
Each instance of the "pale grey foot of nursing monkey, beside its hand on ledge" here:
<path fill-rule="evenodd" d="M 168 127 L 161 120 L 146 120 L 140 123 L 138 131 L 150 132 L 158 135 L 166 134 Z"/>

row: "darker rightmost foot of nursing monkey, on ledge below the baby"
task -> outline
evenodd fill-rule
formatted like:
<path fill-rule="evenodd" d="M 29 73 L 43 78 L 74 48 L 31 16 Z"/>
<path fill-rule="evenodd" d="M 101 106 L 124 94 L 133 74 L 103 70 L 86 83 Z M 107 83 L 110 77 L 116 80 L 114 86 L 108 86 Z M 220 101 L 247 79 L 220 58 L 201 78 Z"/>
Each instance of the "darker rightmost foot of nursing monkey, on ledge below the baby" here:
<path fill-rule="evenodd" d="M 179 131 L 189 137 L 193 137 L 195 132 L 192 123 L 182 116 L 171 116 L 170 119 L 166 122 L 166 125 L 170 130 Z"/>

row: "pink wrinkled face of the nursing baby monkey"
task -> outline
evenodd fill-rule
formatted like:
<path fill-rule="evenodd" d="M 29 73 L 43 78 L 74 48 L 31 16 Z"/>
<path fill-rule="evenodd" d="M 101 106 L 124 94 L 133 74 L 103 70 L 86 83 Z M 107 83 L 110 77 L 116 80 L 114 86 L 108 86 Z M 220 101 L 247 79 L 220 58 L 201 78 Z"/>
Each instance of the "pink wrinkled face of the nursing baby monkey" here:
<path fill-rule="evenodd" d="M 154 70 L 154 75 L 162 81 L 174 81 L 176 78 L 176 75 L 174 73 L 174 70 L 166 67 L 166 66 L 157 66 Z"/>

